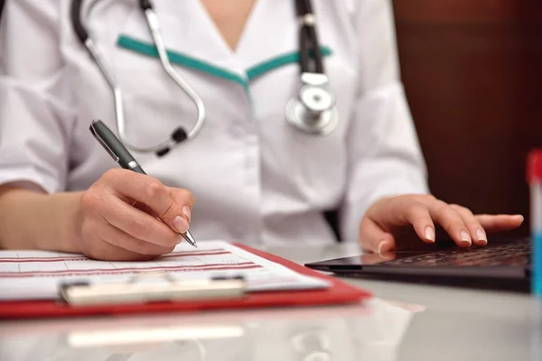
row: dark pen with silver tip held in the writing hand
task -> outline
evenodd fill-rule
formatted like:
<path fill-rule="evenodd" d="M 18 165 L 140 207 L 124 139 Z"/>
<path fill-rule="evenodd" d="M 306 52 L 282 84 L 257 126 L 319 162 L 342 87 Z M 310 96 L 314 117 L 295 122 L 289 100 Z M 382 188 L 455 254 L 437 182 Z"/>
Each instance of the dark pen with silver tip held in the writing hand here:
<path fill-rule="evenodd" d="M 129 171 L 135 171 L 136 173 L 146 174 L 139 163 L 135 161 L 132 154 L 128 152 L 122 142 L 118 140 L 117 136 L 115 136 L 101 120 L 92 121 L 90 132 L 104 147 L 107 153 L 109 153 L 111 158 L 113 158 L 113 160 L 122 168 Z M 193 245 L 194 247 L 198 246 L 190 231 L 186 231 L 186 233 L 182 233 L 181 235 L 190 245 Z"/>

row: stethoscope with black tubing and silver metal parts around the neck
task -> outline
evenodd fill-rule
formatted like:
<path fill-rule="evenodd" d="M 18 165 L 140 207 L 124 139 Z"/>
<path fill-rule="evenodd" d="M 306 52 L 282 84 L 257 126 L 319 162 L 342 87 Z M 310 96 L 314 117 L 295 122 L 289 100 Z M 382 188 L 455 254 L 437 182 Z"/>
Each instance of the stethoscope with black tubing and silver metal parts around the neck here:
<path fill-rule="evenodd" d="M 107 66 L 99 50 L 97 42 L 92 40 L 89 32 L 87 32 L 87 29 L 81 22 L 82 0 L 72 0 L 71 24 L 79 38 L 79 42 L 89 51 L 90 57 L 98 65 L 98 69 L 107 80 L 107 84 L 113 92 L 117 132 L 120 140 L 126 147 L 136 152 L 154 152 L 157 156 L 161 157 L 179 144 L 194 139 L 200 133 L 201 127 L 205 123 L 206 110 L 200 95 L 173 69 L 172 63 L 167 56 L 164 39 L 160 32 L 158 18 L 154 13 L 152 2 L 150 0 L 138 0 L 138 2 L 139 7 L 145 14 L 147 27 L 153 37 L 154 46 L 158 52 L 162 68 L 173 79 L 175 84 L 192 99 L 198 112 L 195 125 L 189 132 L 182 126 L 178 126 L 173 129 L 169 139 L 163 143 L 144 147 L 130 143 L 127 140 L 123 94 L 117 84 L 117 80 L 113 76 L 113 72 Z M 291 99 L 286 106 L 286 121 L 288 124 L 294 125 L 308 134 L 330 134 L 337 126 L 339 115 L 335 106 L 335 96 L 329 87 L 329 79 L 323 70 L 322 54 L 316 35 L 316 24 L 311 0 L 295 0 L 295 9 L 299 20 L 301 88 L 298 97 Z"/>

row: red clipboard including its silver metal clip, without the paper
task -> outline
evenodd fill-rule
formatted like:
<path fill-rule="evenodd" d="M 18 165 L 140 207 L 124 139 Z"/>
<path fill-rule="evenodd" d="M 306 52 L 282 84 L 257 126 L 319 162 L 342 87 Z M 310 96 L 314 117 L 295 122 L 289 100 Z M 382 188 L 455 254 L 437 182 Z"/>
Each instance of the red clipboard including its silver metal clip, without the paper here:
<path fill-rule="evenodd" d="M 129 288 L 129 285 L 125 285 L 126 288 L 119 290 L 111 288 L 96 290 L 86 288 L 88 287 L 86 284 L 72 284 L 66 285 L 60 290 L 62 300 L 0 301 L 0 319 L 322 306 L 359 303 L 372 297 L 370 292 L 360 290 L 337 278 L 318 273 L 277 255 L 257 250 L 248 245 L 233 245 L 268 261 L 282 264 L 296 273 L 324 279 L 331 285 L 329 288 L 318 290 L 249 293 L 245 292 L 242 279 L 217 279 L 193 284 L 171 283 L 167 288 L 153 290 L 153 292 L 149 292 L 148 289 L 139 289 L 140 292 L 135 292 Z M 89 298 L 85 299 L 85 295 L 91 296 L 91 301 Z M 145 295 L 143 300 L 138 298 L 142 295 Z"/>

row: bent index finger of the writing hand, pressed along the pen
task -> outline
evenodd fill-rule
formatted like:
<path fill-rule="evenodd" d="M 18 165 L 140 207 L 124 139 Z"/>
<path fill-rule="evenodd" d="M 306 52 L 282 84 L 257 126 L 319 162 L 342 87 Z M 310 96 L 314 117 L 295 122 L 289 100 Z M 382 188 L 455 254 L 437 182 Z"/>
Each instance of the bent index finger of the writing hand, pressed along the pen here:
<path fill-rule="evenodd" d="M 188 230 L 189 218 L 182 211 L 184 204 L 174 202 L 160 180 L 126 170 L 107 171 L 104 178 L 117 195 L 144 203 L 168 227 L 178 233 Z"/>

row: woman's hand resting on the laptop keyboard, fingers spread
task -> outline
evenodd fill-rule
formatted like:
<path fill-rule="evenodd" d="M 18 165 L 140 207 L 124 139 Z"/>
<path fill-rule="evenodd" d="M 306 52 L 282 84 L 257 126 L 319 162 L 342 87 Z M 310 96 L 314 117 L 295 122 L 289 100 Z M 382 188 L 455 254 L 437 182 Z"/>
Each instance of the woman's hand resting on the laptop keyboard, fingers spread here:
<path fill-rule="evenodd" d="M 519 227 L 522 216 L 473 215 L 458 205 L 450 205 L 431 195 L 405 195 L 380 199 L 365 213 L 360 223 L 360 243 L 364 250 L 388 252 L 397 247 L 398 233 L 414 227 L 425 243 L 435 242 L 438 223 L 460 247 L 486 245 L 486 232 Z"/>

